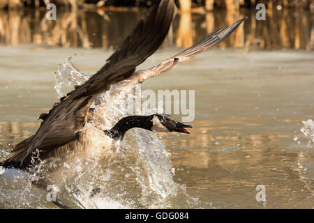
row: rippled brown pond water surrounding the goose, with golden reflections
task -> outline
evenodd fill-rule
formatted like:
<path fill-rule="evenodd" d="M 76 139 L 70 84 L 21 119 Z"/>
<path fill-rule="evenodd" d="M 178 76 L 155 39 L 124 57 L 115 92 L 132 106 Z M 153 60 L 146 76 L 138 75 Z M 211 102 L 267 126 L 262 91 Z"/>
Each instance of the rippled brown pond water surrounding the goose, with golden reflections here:
<path fill-rule="evenodd" d="M 38 115 L 58 100 L 58 65 L 73 56 L 82 74 L 93 74 L 143 17 L 142 10 L 63 12 L 52 24 L 44 13 L 0 13 L 0 160 L 36 132 Z M 254 12 L 177 15 L 163 46 L 140 68 L 243 15 Z M 50 184 L 72 208 L 314 208 L 313 29 L 306 12 L 247 20 L 218 48 L 142 84 L 195 90 L 191 134 L 130 130 L 110 167 L 74 163 L 73 176 Z M 16 170 L 0 175 L 0 208 L 55 208 L 30 179 Z M 89 199 L 96 181 L 105 189 Z M 265 202 L 256 200 L 257 185 L 265 187 Z"/>

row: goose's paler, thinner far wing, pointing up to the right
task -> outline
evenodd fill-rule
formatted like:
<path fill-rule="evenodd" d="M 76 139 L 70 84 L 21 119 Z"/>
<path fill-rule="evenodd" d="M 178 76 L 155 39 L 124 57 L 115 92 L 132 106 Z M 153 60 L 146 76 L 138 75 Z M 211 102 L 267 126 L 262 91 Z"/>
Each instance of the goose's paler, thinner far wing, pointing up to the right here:
<path fill-rule="evenodd" d="M 218 45 L 225 38 L 230 36 L 234 30 L 238 28 L 238 26 L 246 20 L 248 17 L 243 17 L 241 20 L 235 22 L 229 27 L 223 27 L 218 29 L 216 32 L 209 34 L 209 36 L 205 37 L 200 43 L 189 47 L 188 49 L 184 49 L 172 56 L 170 59 L 166 59 L 165 61 L 158 63 L 156 66 L 149 68 L 147 70 L 139 70 L 135 72 L 132 77 L 128 78 L 128 84 L 142 83 L 145 79 L 155 77 L 157 75 L 162 74 L 163 72 L 167 72 L 175 68 L 179 62 L 187 61 L 197 56 L 198 54 L 202 54 L 203 52 L 211 49 L 212 47 Z M 121 83 L 124 84 L 124 83 Z"/>

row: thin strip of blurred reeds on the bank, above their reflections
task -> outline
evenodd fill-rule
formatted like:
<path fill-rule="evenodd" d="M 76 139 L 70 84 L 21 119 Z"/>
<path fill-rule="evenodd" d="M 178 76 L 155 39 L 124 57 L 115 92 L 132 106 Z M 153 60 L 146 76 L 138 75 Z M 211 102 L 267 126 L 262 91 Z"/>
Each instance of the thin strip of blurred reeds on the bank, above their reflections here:
<path fill-rule="evenodd" d="M 151 6 L 160 0 L 1 0 L 0 8 L 43 7 L 48 3 L 56 6 L 73 8 L 89 8 L 91 6 Z M 183 11 L 192 7 L 204 7 L 206 10 L 225 8 L 239 10 L 241 7 L 253 8 L 257 3 L 264 3 L 268 8 L 282 6 L 284 8 L 314 9 L 313 0 L 176 0 L 177 6 Z"/>

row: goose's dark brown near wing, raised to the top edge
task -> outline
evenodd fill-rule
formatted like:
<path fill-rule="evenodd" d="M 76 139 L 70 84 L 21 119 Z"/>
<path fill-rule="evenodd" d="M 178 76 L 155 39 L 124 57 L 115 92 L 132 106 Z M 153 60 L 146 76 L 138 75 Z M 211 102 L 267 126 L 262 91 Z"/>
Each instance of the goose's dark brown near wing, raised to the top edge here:
<path fill-rule="evenodd" d="M 68 93 L 66 98 L 55 105 L 35 135 L 17 144 L 10 161 L 24 159 L 37 149 L 49 153 L 75 139 L 87 121 L 87 112 L 96 96 L 115 84 L 133 75 L 136 66 L 153 54 L 163 43 L 169 30 L 174 11 L 172 0 L 163 0 L 159 6 L 151 7 L 145 22 L 141 21 L 128 36 L 117 52 L 114 52 L 103 68 L 87 82 Z"/>

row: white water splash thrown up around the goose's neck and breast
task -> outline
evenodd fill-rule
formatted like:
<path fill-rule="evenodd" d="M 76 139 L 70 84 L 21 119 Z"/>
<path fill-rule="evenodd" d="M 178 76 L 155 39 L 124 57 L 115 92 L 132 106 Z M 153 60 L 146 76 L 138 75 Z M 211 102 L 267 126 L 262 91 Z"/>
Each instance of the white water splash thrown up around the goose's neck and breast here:
<path fill-rule="evenodd" d="M 84 75 L 73 66 L 71 59 L 59 66 L 56 72 L 55 89 L 59 97 L 64 95 L 63 86 L 82 84 L 89 79 L 89 75 Z M 140 85 L 135 88 L 140 88 Z M 91 106 L 97 117 L 97 121 L 91 121 L 91 124 L 108 129 L 120 118 L 128 116 L 128 111 L 121 109 L 120 105 L 124 103 L 126 95 L 134 100 L 141 98 L 141 95 L 133 95 L 133 90 L 121 89 L 116 84 L 110 91 L 100 94 Z M 148 115 L 157 111 L 147 108 L 138 112 Z M 66 176 L 57 183 L 66 190 L 65 198 L 70 197 L 80 208 L 156 208 L 164 207 L 168 199 L 177 196 L 179 185 L 172 178 L 171 154 L 156 134 L 142 129 L 130 130 L 119 147 L 117 159 L 110 164 L 96 158 L 65 163 L 57 174 Z M 56 162 L 49 165 L 55 166 Z M 46 166 L 45 169 L 49 168 Z M 101 193 L 91 198 L 91 190 L 96 187 L 100 187 Z"/>

